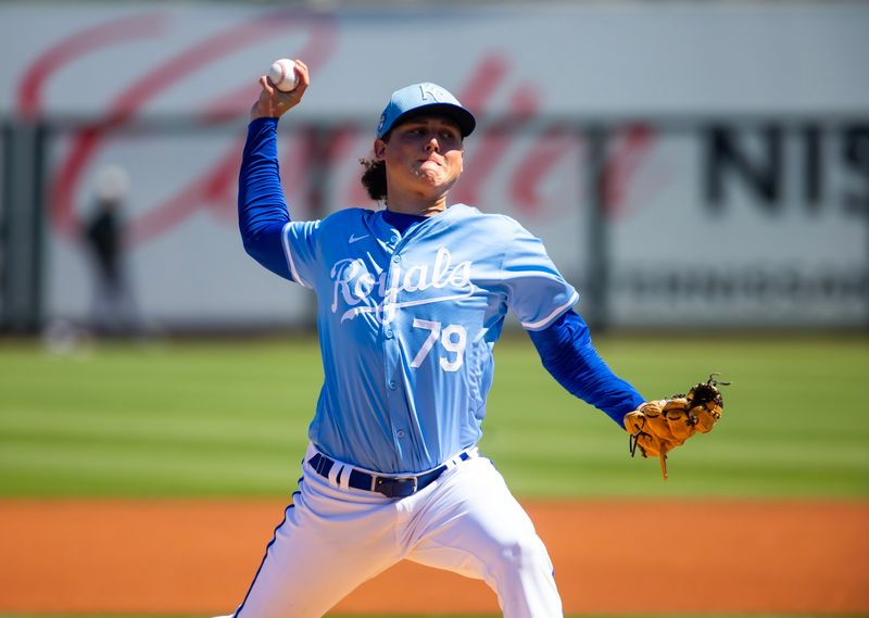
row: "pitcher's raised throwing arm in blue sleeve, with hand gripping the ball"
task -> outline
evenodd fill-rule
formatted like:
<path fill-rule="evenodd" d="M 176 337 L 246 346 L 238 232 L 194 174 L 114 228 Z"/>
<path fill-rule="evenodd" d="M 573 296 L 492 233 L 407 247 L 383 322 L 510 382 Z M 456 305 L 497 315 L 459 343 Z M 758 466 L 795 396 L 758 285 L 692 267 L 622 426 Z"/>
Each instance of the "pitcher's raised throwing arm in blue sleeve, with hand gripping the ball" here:
<path fill-rule="evenodd" d="M 248 139 L 241 157 L 238 191 L 238 223 L 244 250 L 273 273 L 294 280 L 282 244 L 284 228 L 290 222 L 280 186 L 277 156 L 278 118 L 299 104 L 310 77 L 307 67 L 295 61 L 299 86 L 281 92 L 263 75 L 260 97 L 251 108 Z"/>

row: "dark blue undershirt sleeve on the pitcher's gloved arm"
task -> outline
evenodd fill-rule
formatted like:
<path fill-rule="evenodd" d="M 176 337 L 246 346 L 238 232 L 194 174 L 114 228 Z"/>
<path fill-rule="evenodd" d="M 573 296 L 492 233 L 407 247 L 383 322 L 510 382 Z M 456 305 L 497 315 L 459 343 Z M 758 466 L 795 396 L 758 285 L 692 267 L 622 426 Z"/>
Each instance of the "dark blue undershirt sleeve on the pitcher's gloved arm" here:
<path fill-rule="evenodd" d="M 543 366 L 568 392 L 602 409 L 624 428 L 622 418 L 645 400 L 597 355 L 589 327 L 568 310 L 543 330 L 529 330 Z"/>

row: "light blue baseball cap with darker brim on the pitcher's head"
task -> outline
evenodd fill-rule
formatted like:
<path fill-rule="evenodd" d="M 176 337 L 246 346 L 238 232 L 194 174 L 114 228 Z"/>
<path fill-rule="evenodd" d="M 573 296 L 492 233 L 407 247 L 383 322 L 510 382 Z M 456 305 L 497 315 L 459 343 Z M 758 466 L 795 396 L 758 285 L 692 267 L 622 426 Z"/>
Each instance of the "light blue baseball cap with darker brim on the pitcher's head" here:
<path fill-rule="evenodd" d="M 417 113 L 443 114 L 451 117 L 458 124 L 462 137 L 467 137 L 477 126 L 474 114 L 468 112 L 453 97 L 446 88 L 441 88 L 437 84 L 424 81 L 414 84 L 401 90 L 395 90 L 389 99 L 389 103 L 380 114 L 380 123 L 377 125 L 377 139 L 381 139 L 400 121 Z"/>

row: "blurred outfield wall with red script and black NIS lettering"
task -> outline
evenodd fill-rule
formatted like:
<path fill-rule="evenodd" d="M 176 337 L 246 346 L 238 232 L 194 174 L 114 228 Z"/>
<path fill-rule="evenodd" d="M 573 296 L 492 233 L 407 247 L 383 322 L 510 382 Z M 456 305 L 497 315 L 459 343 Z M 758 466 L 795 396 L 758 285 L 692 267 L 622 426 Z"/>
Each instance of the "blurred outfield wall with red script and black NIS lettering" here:
<path fill-rule="evenodd" d="M 310 324 L 312 300 L 243 255 L 235 218 L 256 77 L 299 56 L 313 85 L 280 147 L 297 218 L 366 203 L 357 160 L 387 97 L 433 80 L 481 122 L 455 201 L 541 236 L 593 321 L 861 327 L 867 31 L 869 5 L 837 2 L 2 5 L 0 50 L 20 60 L 0 65 L 0 113 L 40 127 L 30 150 L 27 131 L 4 134 L 2 220 L 39 203 L 45 225 L 21 228 L 45 235 L 32 304 L 43 320 L 85 319 L 77 223 L 98 171 L 123 165 L 129 270 L 149 320 Z M 9 173 L 16 149 L 38 153 L 38 189 L 10 188 L 23 182 Z M 0 308 L 35 280 L 9 275 L 26 270 L 26 248 L 5 254 Z"/>

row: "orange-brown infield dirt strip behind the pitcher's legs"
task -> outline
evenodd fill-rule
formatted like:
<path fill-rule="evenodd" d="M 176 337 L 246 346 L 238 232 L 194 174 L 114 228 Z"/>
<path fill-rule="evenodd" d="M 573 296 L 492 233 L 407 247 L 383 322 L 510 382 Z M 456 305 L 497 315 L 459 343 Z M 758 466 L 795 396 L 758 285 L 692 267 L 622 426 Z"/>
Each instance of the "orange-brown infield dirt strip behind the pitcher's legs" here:
<path fill-rule="evenodd" d="M 0 502 L 0 611 L 227 614 L 284 504 Z M 526 502 L 568 614 L 869 613 L 869 503 Z M 336 613 L 498 614 L 480 581 L 402 563 Z"/>

